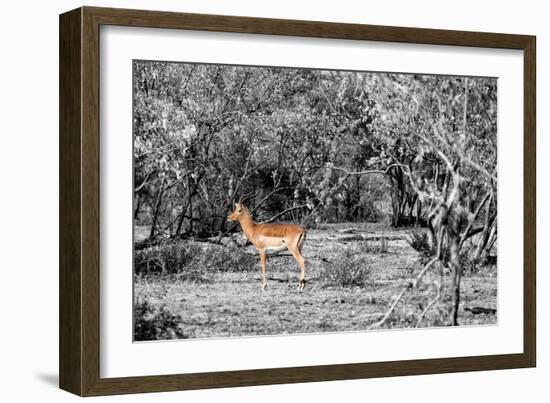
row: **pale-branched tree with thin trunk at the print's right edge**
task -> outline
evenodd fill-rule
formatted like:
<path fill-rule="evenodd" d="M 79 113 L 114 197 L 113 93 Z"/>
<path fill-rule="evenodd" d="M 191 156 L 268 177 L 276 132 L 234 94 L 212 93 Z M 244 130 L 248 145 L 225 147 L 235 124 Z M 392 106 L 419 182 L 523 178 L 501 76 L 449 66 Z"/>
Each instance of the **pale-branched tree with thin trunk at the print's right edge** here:
<path fill-rule="evenodd" d="M 391 150 L 387 154 L 428 206 L 435 257 L 421 273 L 433 267 L 441 277 L 444 269 L 451 272 L 449 322 L 457 325 L 461 250 L 479 232 L 478 251 L 487 251 L 496 239 L 496 82 L 405 75 L 380 80 L 378 105 L 391 111 L 382 126 L 390 135 L 405 130 L 416 143 L 407 163 Z"/>

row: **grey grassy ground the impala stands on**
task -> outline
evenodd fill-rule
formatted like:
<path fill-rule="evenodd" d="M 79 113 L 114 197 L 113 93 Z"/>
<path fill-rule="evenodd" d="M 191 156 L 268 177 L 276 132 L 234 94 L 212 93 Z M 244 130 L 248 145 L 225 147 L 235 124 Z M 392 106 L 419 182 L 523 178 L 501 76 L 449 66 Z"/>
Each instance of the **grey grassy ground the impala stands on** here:
<path fill-rule="evenodd" d="M 299 269 L 291 256 L 268 257 L 268 287 L 260 289 L 257 270 L 211 271 L 208 281 L 182 281 L 169 275 L 136 276 L 136 301 L 174 315 L 177 337 L 235 337 L 336 331 L 365 331 L 379 321 L 395 296 L 422 268 L 419 253 L 407 242 L 407 229 L 382 224 L 325 224 L 308 230 L 303 255 L 307 286 L 298 290 Z M 248 247 L 252 253 L 253 248 Z M 354 263 L 355 262 L 355 263 Z M 365 273 L 357 281 L 331 277 L 331 271 Z M 436 274 L 428 274 L 418 290 L 407 291 L 382 327 L 445 325 L 447 301 L 436 303 L 418 318 L 436 295 Z M 353 280 L 353 279 L 351 279 Z M 461 325 L 496 324 L 494 313 L 474 315 L 464 308 L 497 308 L 496 268 L 467 272 L 462 280 Z M 168 336 L 166 336 L 168 337 Z M 158 337 L 158 338 L 163 338 Z"/>

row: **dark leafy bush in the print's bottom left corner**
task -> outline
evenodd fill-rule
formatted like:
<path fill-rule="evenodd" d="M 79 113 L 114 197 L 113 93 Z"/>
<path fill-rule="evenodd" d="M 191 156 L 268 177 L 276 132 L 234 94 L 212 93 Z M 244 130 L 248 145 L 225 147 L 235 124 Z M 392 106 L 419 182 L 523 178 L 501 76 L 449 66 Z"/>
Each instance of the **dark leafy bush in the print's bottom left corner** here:
<path fill-rule="evenodd" d="M 134 307 L 134 340 L 186 339 L 182 329 L 182 318 L 174 315 L 166 307 L 154 308 L 147 301 L 136 303 Z"/>

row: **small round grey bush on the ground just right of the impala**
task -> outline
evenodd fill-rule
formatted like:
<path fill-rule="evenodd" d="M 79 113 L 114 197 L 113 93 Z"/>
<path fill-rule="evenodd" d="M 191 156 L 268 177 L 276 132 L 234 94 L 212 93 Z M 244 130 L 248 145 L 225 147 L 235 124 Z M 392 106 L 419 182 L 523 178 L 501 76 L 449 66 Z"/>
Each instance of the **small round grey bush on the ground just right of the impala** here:
<path fill-rule="evenodd" d="M 371 268 L 360 250 L 346 249 L 335 262 L 323 262 L 321 280 L 328 286 L 364 287 L 369 283 Z"/>

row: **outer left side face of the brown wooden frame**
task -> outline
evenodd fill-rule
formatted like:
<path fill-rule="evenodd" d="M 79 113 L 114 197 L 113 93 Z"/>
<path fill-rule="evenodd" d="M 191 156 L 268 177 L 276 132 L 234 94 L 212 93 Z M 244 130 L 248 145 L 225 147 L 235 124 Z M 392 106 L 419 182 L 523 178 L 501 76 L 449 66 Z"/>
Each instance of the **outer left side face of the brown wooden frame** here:
<path fill-rule="evenodd" d="M 81 11 L 59 22 L 59 386 L 81 394 Z"/>

